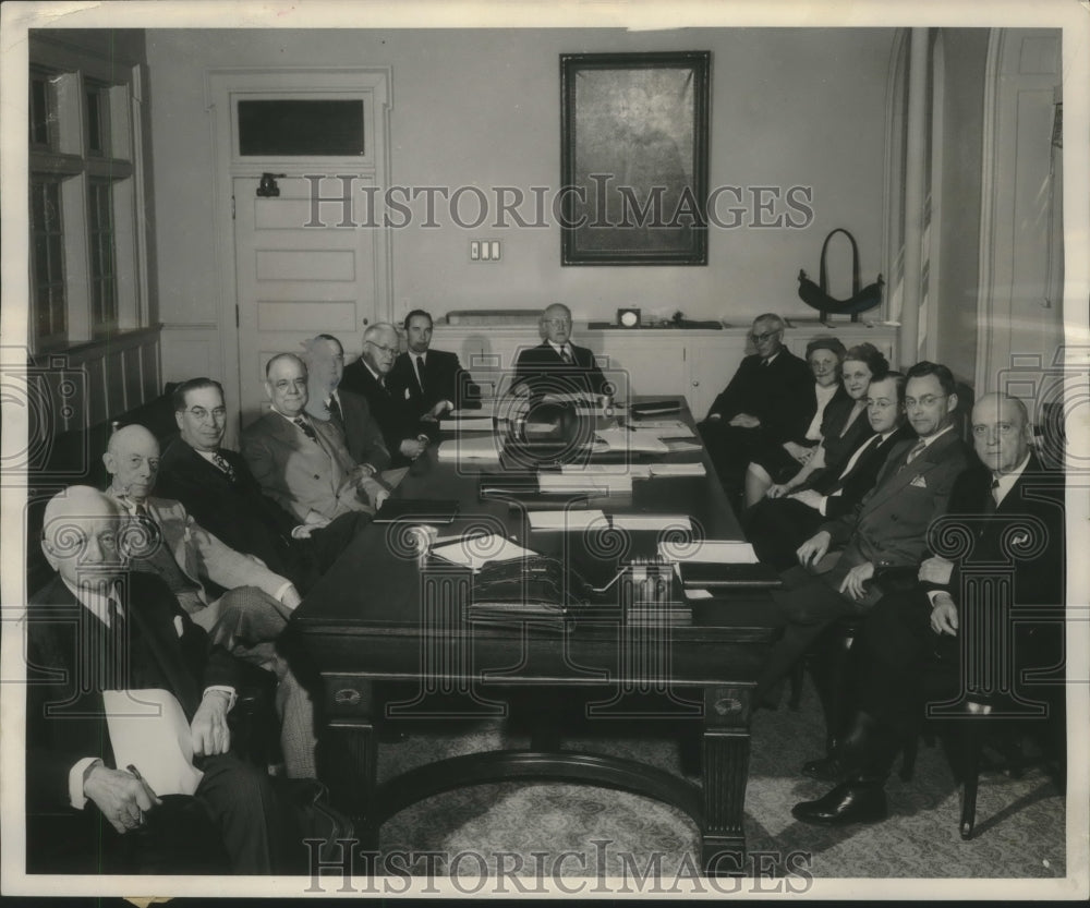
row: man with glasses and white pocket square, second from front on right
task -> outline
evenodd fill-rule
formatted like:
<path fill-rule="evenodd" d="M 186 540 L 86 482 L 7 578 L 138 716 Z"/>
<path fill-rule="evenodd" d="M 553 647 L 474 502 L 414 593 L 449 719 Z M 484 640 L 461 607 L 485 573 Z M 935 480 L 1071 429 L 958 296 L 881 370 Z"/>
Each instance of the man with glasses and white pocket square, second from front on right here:
<path fill-rule="evenodd" d="M 865 614 L 882 597 L 883 584 L 915 569 L 927 550 L 928 526 L 946 512 L 969 456 L 953 426 L 954 376 L 946 366 L 925 361 L 907 376 L 905 407 L 917 438 L 889 453 L 856 511 L 825 523 L 799 547 L 801 567 L 784 572 L 785 589 L 775 591 L 773 601 L 786 628 L 758 679 L 759 700 L 831 621 Z M 821 570 L 825 555 L 838 546 L 843 552 L 829 570 L 816 577 L 808 570 Z"/>

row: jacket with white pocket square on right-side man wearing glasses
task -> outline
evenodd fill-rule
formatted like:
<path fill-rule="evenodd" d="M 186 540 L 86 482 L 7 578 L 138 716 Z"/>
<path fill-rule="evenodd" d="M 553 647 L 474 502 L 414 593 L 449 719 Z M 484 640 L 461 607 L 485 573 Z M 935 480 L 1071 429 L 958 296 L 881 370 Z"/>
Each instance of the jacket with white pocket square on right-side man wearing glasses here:
<path fill-rule="evenodd" d="M 946 512 L 954 481 L 965 471 L 971 452 L 949 429 L 906 463 L 916 444 L 916 439 L 901 441 L 891 451 L 874 487 L 852 513 L 823 524 L 832 535 L 832 546 L 845 546 L 837 573 L 865 561 L 889 568 L 922 560 L 928 526 Z"/>

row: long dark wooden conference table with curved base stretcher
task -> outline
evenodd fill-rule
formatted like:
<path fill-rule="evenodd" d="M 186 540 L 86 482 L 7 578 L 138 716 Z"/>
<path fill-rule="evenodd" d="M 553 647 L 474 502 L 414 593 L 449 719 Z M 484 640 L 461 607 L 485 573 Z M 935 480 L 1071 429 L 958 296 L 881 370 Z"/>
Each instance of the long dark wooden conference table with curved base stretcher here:
<path fill-rule="evenodd" d="M 668 419 L 692 426 L 685 409 Z M 482 476 L 500 467 L 450 459 L 450 448 L 441 452 L 471 437 L 444 433 L 440 445 L 412 465 L 395 493 L 395 498 L 457 500 L 458 514 L 438 528 L 441 536 L 501 534 L 559 558 L 600 588 L 626 564 L 652 558 L 662 538 L 677 535 L 670 517 L 688 517 L 693 533 L 707 540 L 742 538 L 702 447 L 665 456 L 605 456 L 631 462 L 642 473 L 649 462 L 701 462 L 705 473 L 635 479 L 630 493 L 610 488 L 606 497 L 557 496 L 552 506 L 572 508 L 573 520 L 584 508 L 639 514 L 649 529 L 600 523 L 559 532 L 531 529 L 530 516 L 540 504 L 482 500 Z M 623 463 L 618 469 L 623 473 Z M 680 808 L 700 828 L 704 871 L 741 871 L 753 683 L 778 633 L 767 591 L 742 589 L 689 602 L 675 584 L 673 598 L 682 612 L 691 609 L 689 624 L 658 621 L 653 613 L 638 619 L 622 595 L 610 601 L 615 607 L 585 615 L 516 614 L 497 621 L 474 618 L 473 582 L 469 568 L 422 556 L 411 525 L 375 523 L 292 618 L 292 645 L 320 702 L 319 775 L 334 804 L 353 816 L 362 840 L 377 848 L 384 821 L 445 790 L 513 779 L 564 780 L 625 789 Z M 529 749 L 451 758 L 377 784 L 380 739 L 388 739 L 400 721 L 434 719 L 449 728 L 452 722 L 517 715 L 528 702 L 534 704 L 531 725 L 536 722 Z M 542 710 L 543 702 L 556 709 Z M 572 703 L 581 707 L 584 730 L 590 727 L 605 739 L 622 728 L 631 733 L 633 723 L 619 721 L 625 718 L 649 733 L 688 727 L 700 742 L 701 784 L 633 760 L 565 749 L 564 715 Z"/>

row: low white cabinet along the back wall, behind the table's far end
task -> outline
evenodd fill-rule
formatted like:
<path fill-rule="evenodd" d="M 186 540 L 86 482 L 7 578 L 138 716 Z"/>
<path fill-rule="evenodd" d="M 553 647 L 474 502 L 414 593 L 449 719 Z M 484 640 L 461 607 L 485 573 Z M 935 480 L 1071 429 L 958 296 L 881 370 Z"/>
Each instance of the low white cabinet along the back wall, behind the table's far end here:
<path fill-rule="evenodd" d="M 746 355 L 748 328 L 722 330 L 678 328 L 610 328 L 589 330 L 576 325 L 572 339 L 591 348 L 598 364 L 618 386 L 618 396 L 683 395 L 693 416 L 703 419 L 708 408 Z M 896 328 L 869 328 L 863 323 L 844 323 L 829 328 L 821 323 L 796 323 L 785 341 L 798 355 L 819 335 L 833 335 L 845 347 L 870 341 L 891 363 L 897 349 Z M 437 323 L 433 343 L 453 350 L 473 379 L 497 390 L 506 389 L 505 376 L 514 368 L 518 352 L 541 343 L 536 326 L 443 325 Z"/>

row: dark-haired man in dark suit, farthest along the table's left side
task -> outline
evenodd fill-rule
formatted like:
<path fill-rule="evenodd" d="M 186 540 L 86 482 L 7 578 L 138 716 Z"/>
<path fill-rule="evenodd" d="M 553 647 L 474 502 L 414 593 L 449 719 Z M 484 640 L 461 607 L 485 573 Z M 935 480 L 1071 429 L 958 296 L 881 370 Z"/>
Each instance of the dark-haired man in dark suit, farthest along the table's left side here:
<path fill-rule="evenodd" d="M 423 420 L 438 420 L 444 413 L 464 407 L 480 407 L 468 372 L 458 354 L 432 349 L 432 315 L 415 308 L 405 316 L 409 350 L 393 362 L 388 378 L 390 392 L 404 400 Z"/>

